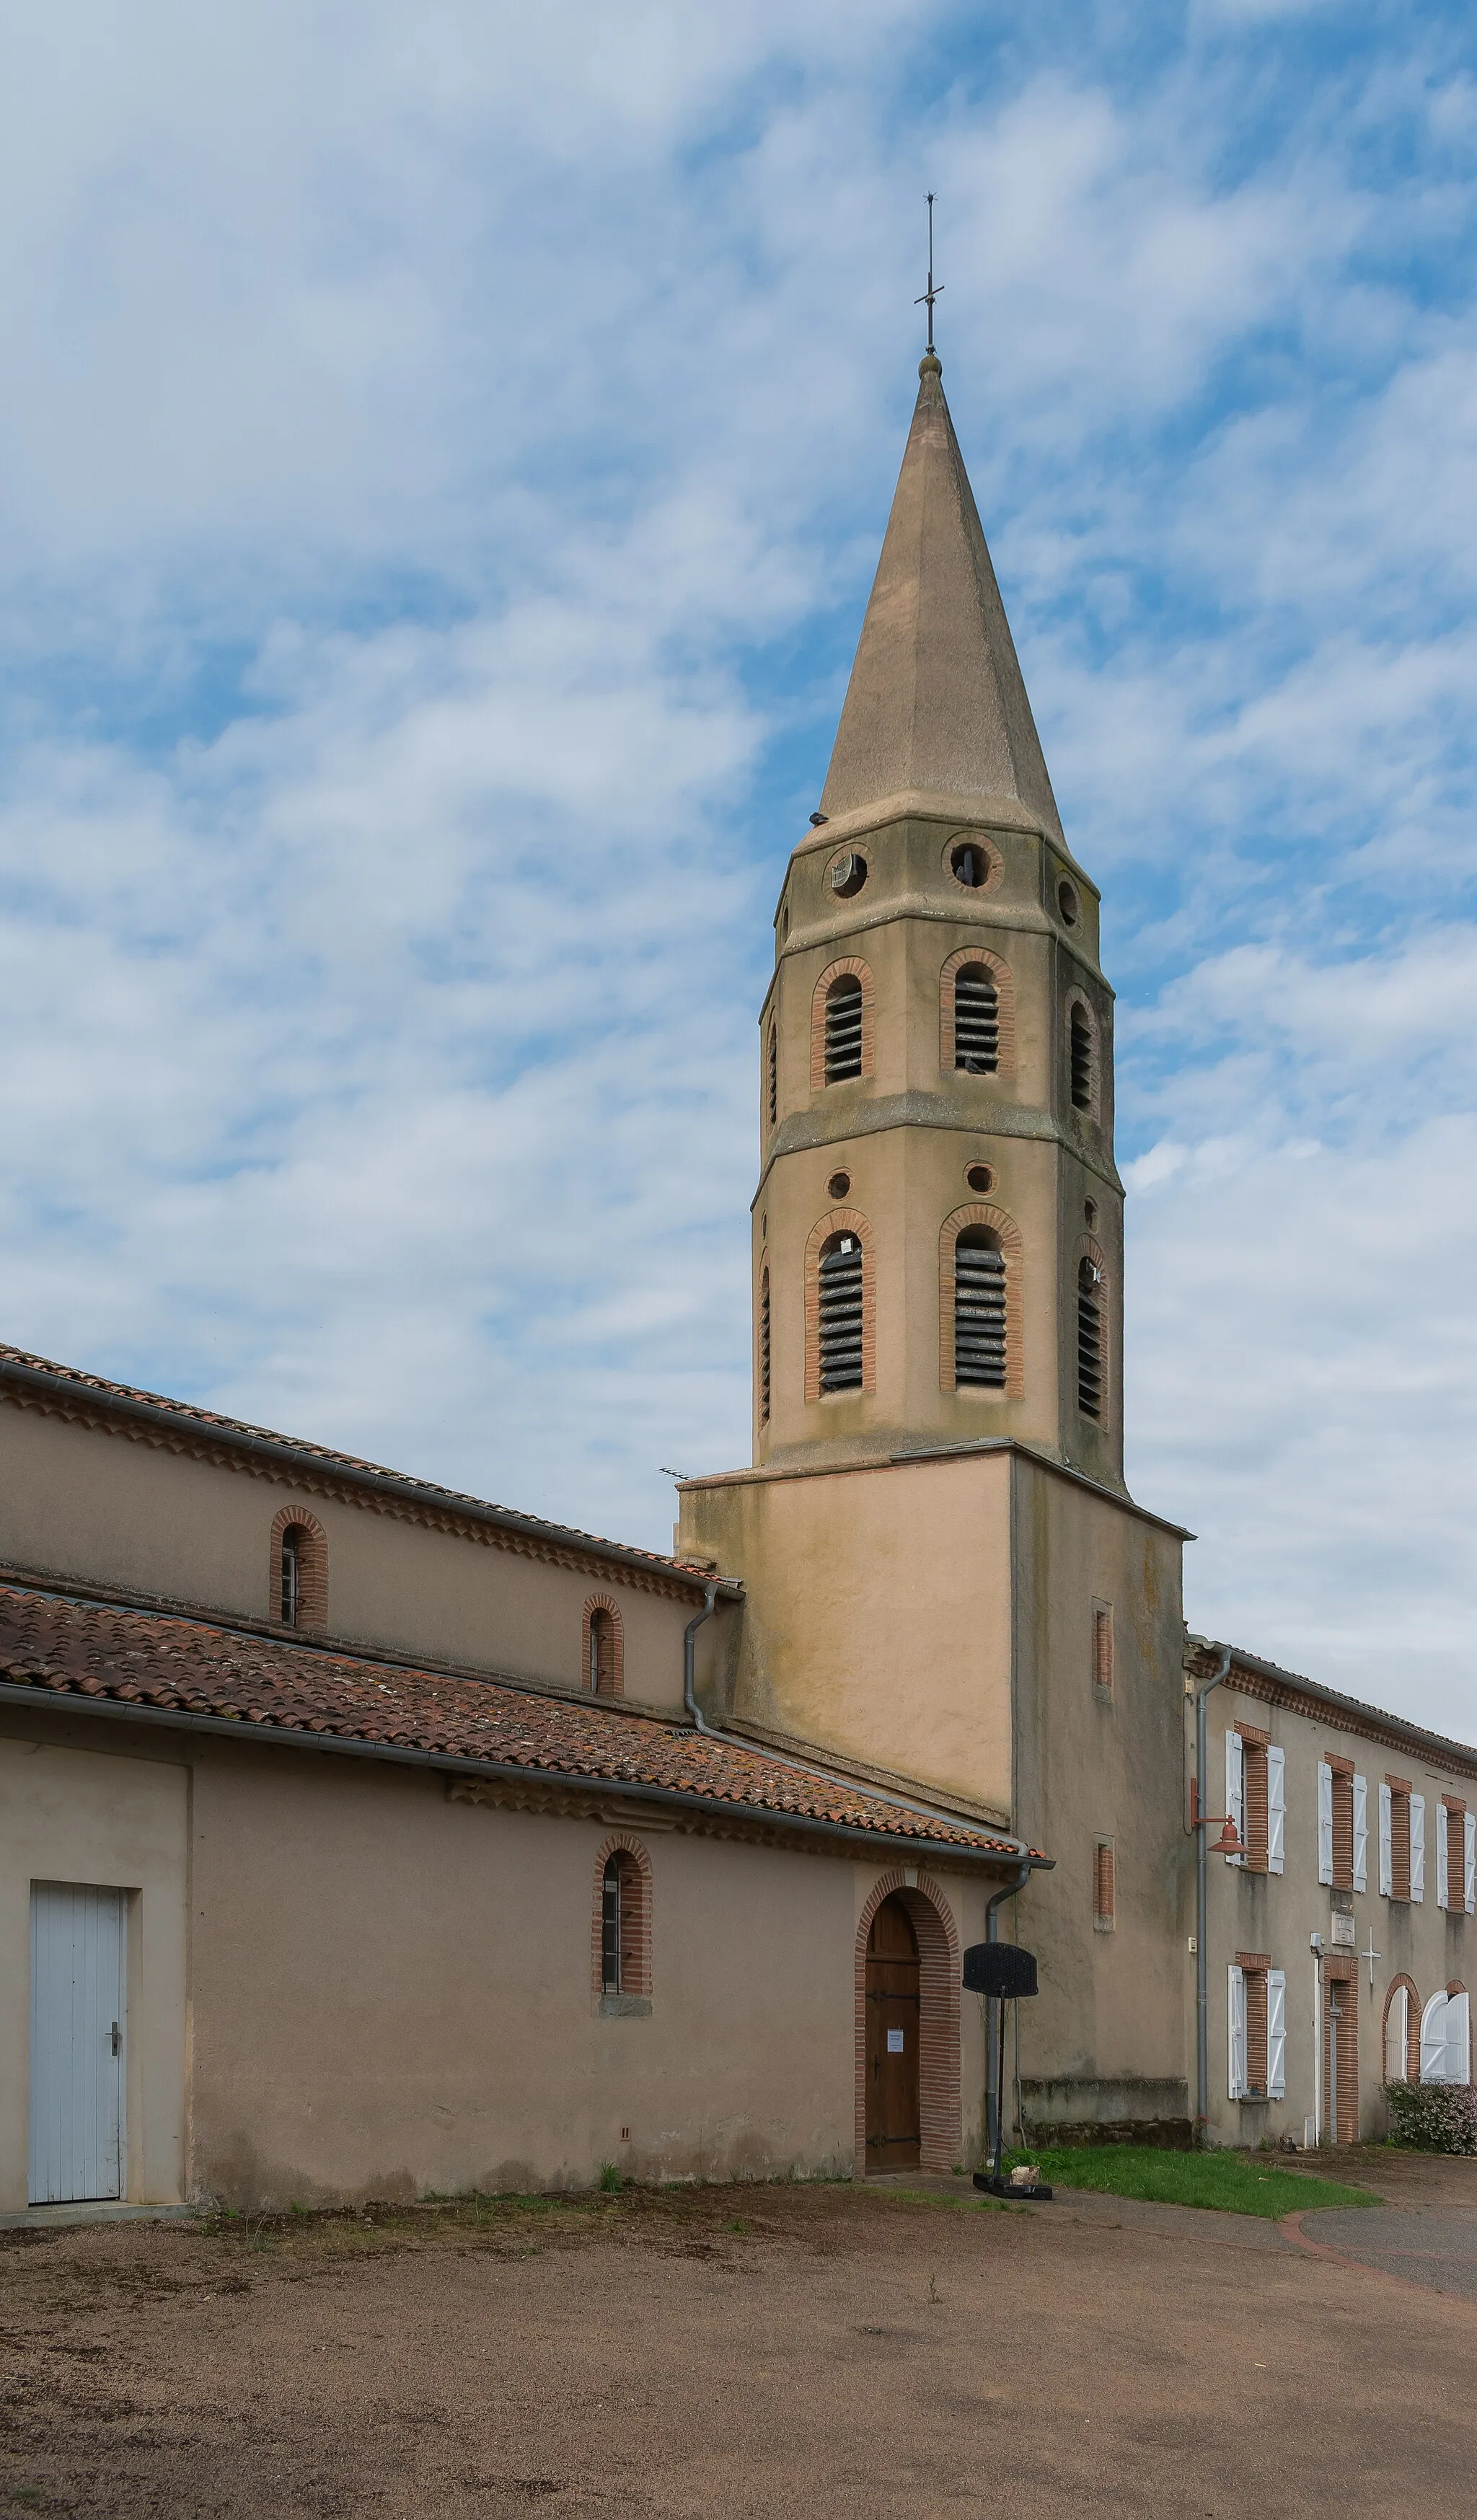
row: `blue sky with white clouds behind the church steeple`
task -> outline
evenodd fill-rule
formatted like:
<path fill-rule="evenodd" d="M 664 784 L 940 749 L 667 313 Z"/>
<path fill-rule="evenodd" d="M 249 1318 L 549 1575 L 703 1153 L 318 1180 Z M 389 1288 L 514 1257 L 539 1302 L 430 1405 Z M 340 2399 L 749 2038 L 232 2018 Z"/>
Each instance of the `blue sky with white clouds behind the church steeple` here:
<path fill-rule="evenodd" d="M 1106 895 L 1192 1625 L 1477 1736 L 1452 5 L 55 0 L 0 81 L 0 1336 L 665 1545 L 915 393 Z"/>

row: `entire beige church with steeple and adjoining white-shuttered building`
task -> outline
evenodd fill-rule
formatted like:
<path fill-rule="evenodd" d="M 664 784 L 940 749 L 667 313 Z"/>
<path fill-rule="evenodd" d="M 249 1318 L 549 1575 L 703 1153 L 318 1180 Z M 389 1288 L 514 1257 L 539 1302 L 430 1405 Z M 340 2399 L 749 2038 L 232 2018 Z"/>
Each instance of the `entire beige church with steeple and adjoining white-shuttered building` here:
<path fill-rule="evenodd" d="M 1112 1016 L 930 353 L 673 1555 L 0 1351 L 0 2213 L 970 2165 L 998 1930 L 1031 2134 L 1469 2079 L 1477 1751 L 1187 1638 L 1124 1487 Z"/>

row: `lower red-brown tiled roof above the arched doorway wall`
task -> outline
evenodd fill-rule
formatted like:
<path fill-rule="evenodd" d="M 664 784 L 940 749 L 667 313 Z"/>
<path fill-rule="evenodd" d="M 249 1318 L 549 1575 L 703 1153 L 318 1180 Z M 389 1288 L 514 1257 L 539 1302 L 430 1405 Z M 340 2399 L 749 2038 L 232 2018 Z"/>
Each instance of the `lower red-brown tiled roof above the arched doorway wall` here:
<path fill-rule="evenodd" d="M 0 1585 L 0 1678 L 58 1698 L 111 1698 L 189 1719 L 277 1726 L 340 1741 L 489 1761 L 555 1782 L 655 1787 L 776 1822 L 829 1822 L 973 1855 L 1008 1837 L 910 1812 L 839 1777 L 812 1777 L 688 1724 L 592 1698 L 449 1678 L 348 1653 L 212 1628 L 204 1620 Z"/>

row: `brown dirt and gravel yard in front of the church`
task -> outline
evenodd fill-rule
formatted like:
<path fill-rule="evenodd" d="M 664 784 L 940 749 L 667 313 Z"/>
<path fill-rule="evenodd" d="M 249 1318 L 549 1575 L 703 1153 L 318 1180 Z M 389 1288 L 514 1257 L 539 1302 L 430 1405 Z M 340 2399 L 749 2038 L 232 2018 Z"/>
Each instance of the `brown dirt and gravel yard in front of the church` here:
<path fill-rule="evenodd" d="M 1369 2175 L 1477 2228 L 1477 2162 Z M 1306 2233 L 877 2187 L 3 2233 L 0 2512 L 1469 2520 L 1477 2303 Z"/>

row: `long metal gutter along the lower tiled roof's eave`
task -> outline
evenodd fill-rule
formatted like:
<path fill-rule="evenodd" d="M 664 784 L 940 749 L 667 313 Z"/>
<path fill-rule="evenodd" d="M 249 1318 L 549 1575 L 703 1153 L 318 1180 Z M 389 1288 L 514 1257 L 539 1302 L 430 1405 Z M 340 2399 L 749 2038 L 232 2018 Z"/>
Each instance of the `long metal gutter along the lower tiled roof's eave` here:
<path fill-rule="evenodd" d="M 512 1767 L 502 1759 L 459 1759 L 454 1751 L 428 1751 L 428 1749 L 401 1749 L 391 1741 L 355 1741 L 343 1734 L 313 1734 L 295 1731 L 290 1724 L 247 1724 L 242 1716 L 194 1716 L 187 1709 L 174 1706 L 139 1706 L 129 1698 L 93 1698 L 76 1688 L 25 1688 L 20 1681 L 0 1681 L 0 1706 L 28 1706 L 111 1716 L 121 1724 L 154 1724 L 169 1731 L 202 1731 L 227 1736 L 232 1741 L 267 1741 L 275 1749 L 307 1749 L 328 1751 L 340 1759 L 378 1759 L 386 1767 L 418 1767 L 431 1769 L 444 1777 L 486 1777 L 494 1784 L 537 1784 L 547 1792 L 590 1794 L 602 1802 L 648 1802 L 660 1809 L 693 1812 L 706 1819 L 728 1817 L 746 1819 L 756 1827 L 789 1830 L 799 1837 L 822 1837 L 854 1850 L 882 1847 L 890 1855 L 907 1852 L 910 1860 L 922 1860 L 933 1855 L 938 1862 L 963 1862 L 970 1867 L 991 1867 L 1011 1862 L 1026 1862 L 1031 1872 L 1051 1870 L 1049 1855 L 1018 1857 L 1011 1847 L 968 1847 L 950 1845 L 938 1837 L 892 1837 L 885 1830 L 857 1830 L 844 1819 L 814 1819 L 807 1812 L 774 1812 L 756 1802 L 731 1802 L 721 1794 L 683 1794 L 681 1787 L 668 1784 L 633 1784 L 623 1777 L 582 1777 L 567 1769 L 544 1767 Z"/>

